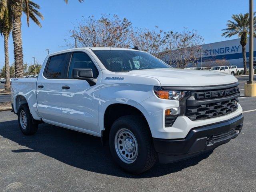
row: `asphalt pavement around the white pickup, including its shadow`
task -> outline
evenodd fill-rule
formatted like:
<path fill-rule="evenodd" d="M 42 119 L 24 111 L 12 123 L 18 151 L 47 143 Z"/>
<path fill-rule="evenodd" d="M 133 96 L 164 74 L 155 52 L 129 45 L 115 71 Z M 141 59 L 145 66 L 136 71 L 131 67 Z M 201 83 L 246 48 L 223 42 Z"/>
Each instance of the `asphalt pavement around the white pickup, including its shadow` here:
<path fill-rule="evenodd" d="M 17 116 L 0 112 L 0 191 L 211 191 L 255 192 L 256 98 L 244 97 L 241 134 L 213 152 L 173 164 L 157 163 L 144 174 L 123 172 L 100 138 L 40 124 L 24 136 Z"/>

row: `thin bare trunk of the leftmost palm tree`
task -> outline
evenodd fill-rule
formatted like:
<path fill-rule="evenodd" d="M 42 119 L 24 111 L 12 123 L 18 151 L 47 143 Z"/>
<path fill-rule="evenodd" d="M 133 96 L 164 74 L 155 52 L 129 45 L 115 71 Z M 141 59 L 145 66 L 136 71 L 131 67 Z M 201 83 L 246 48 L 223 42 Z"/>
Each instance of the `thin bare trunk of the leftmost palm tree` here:
<path fill-rule="evenodd" d="M 9 34 L 4 34 L 4 65 L 5 65 L 5 90 L 10 90 L 10 67 L 9 67 Z"/>

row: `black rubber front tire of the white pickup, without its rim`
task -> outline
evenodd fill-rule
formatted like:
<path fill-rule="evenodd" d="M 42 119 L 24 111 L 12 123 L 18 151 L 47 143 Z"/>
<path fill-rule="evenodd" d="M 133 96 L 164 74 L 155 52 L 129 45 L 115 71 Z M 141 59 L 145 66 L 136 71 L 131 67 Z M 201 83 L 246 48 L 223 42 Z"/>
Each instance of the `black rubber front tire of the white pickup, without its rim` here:
<path fill-rule="evenodd" d="M 115 137 L 117 132 L 124 129 L 129 130 L 134 135 L 138 146 L 136 159 L 134 162 L 130 163 L 124 162 L 122 158 L 118 156 L 115 146 Z M 152 168 L 156 163 L 157 153 L 154 148 L 150 129 L 145 120 L 139 116 L 128 115 L 118 118 L 111 127 L 109 144 L 110 152 L 114 161 L 126 172 L 140 174 Z"/>

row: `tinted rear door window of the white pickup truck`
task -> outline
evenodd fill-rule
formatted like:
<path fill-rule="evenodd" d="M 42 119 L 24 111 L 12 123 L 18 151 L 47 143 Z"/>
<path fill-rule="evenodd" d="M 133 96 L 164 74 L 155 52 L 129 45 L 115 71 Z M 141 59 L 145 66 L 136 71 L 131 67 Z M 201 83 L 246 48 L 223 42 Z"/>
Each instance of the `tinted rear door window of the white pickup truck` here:
<path fill-rule="evenodd" d="M 64 78 L 67 54 L 50 57 L 45 76 L 47 78 Z"/>

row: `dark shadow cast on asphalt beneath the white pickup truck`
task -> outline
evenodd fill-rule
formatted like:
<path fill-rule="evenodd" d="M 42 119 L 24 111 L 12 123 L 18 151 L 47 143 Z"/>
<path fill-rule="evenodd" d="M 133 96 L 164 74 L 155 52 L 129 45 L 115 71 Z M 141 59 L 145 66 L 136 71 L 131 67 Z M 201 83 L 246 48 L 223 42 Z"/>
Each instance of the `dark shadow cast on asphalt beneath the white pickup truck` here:
<path fill-rule="evenodd" d="M 151 170 L 140 175 L 132 175 L 114 164 L 108 146 L 102 147 L 100 138 L 88 134 L 49 124 L 40 124 L 35 135 L 24 136 L 17 120 L 13 120 L 0 123 L 0 136 L 26 147 L 10 152 L 39 152 L 76 168 L 127 178 L 151 178 L 178 172 L 198 164 L 212 153 L 208 152 L 172 164 L 159 164 L 157 162 Z"/>

